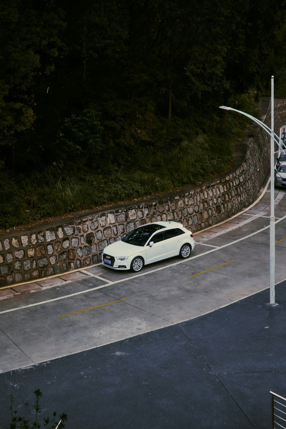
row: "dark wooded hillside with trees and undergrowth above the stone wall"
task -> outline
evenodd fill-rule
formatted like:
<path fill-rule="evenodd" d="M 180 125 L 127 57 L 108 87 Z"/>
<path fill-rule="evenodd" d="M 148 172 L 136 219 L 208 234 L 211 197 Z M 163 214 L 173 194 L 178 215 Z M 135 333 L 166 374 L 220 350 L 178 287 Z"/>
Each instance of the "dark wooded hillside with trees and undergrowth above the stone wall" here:
<path fill-rule="evenodd" d="M 285 0 L 3 0 L 0 228 L 164 192 L 231 165 L 277 76 Z M 239 115 L 238 115 L 239 116 Z"/>

